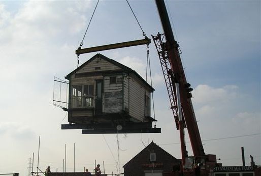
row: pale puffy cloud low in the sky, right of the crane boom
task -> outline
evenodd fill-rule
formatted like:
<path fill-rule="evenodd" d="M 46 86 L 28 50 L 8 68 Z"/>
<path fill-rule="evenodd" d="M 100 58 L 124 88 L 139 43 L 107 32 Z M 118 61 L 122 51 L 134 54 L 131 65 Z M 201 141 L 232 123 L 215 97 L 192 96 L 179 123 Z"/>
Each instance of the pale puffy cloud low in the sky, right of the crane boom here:
<path fill-rule="evenodd" d="M 208 131 L 215 124 L 223 133 L 234 135 L 260 132 L 260 111 L 248 107 L 253 100 L 247 97 L 236 85 L 198 85 L 192 101 L 200 126 Z"/>

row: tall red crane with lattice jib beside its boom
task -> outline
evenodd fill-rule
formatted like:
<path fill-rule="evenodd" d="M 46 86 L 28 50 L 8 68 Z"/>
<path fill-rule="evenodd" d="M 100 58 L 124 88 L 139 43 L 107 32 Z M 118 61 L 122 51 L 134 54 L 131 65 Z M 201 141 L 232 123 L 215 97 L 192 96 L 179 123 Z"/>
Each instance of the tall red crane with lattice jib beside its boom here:
<path fill-rule="evenodd" d="M 164 73 L 166 86 L 177 130 L 180 131 L 183 172 L 208 175 L 216 164 L 216 155 L 206 155 L 191 102 L 190 84 L 187 82 L 179 44 L 175 41 L 164 0 L 155 0 L 164 34 L 152 36 Z M 187 156 L 184 128 L 187 128 L 193 157 Z M 188 170 L 188 171 L 187 171 Z"/>

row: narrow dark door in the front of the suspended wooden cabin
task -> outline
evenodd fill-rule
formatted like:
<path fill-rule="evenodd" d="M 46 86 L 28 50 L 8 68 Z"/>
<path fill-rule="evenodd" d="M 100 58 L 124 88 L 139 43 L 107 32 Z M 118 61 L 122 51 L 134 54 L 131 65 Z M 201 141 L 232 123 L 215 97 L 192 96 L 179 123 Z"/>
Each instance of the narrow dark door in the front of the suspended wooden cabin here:
<path fill-rule="evenodd" d="M 95 115 L 103 113 L 103 80 L 96 80 Z"/>

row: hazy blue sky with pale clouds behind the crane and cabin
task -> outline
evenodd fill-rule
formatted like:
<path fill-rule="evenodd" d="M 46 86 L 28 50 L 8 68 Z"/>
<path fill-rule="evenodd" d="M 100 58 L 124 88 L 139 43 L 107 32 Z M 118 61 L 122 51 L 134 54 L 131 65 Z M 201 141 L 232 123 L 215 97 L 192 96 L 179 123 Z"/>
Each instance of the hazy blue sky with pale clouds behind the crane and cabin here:
<path fill-rule="evenodd" d="M 162 33 L 154 1 L 129 1 L 145 34 Z M 149 46 L 154 108 L 160 134 L 92 134 L 61 130 L 67 114 L 52 104 L 53 78 L 77 68 L 75 50 L 96 1 L 0 1 L 0 173 L 28 174 L 34 153 L 39 168 L 92 170 L 101 164 L 117 172 L 117 138 L 122 166 L 151 140 L 181 158 L 156 48 Z M 261 165 L 261 3 L 260 1 L 166 1 L 175 39 L 182 50 L 187 81 L 206 154 L 224 166 Z M 175 29 L 175 30 L 174 30 Z M 125 1 L 100 1 L 83 47 L 143 39 Z M 146 46 L 99 53 L 146 75 Z M 80 64 L 96 53 L 80 55 Z M 40 151 L 38 160 L 38 146 Z M 186 132 L 187 136 L 187 132 Z M 186 137 L 188 155 L 192 155 Z M 74 155 L 75 144 L 75 155 Z M 67 150 L 65 150 L 65 145 Z M 105 163 L 105 167 L 103 166 Z"/>

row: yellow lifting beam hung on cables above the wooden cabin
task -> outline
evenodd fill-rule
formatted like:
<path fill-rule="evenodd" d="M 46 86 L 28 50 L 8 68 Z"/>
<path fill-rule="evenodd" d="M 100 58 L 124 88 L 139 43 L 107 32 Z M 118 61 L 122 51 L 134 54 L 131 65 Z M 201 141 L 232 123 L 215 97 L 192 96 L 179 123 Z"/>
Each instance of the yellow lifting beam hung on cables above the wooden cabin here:
<path fill-rule="evenodd" d="M 80 54 L 89 53 L 89 52 L 104 51 L 104 50 L 109 50 L 109 49 L 123 48 L 123 47 L 129 47 L 129 46 L 137 46 L 137 45 L 144 45 L 144 44 L 149 45 L 150 39 L 146 37 L 145 39 L 142 39 L 142 40 L 134 40 L 134 41 L 129 41 L 129 42 L 95 46 L 95 47 L 91 47 L 91 48 L 83 48 L 83 49 L 78 48 L 75 51 L 75 53 L 77 55 L 80 55 Z"/>

